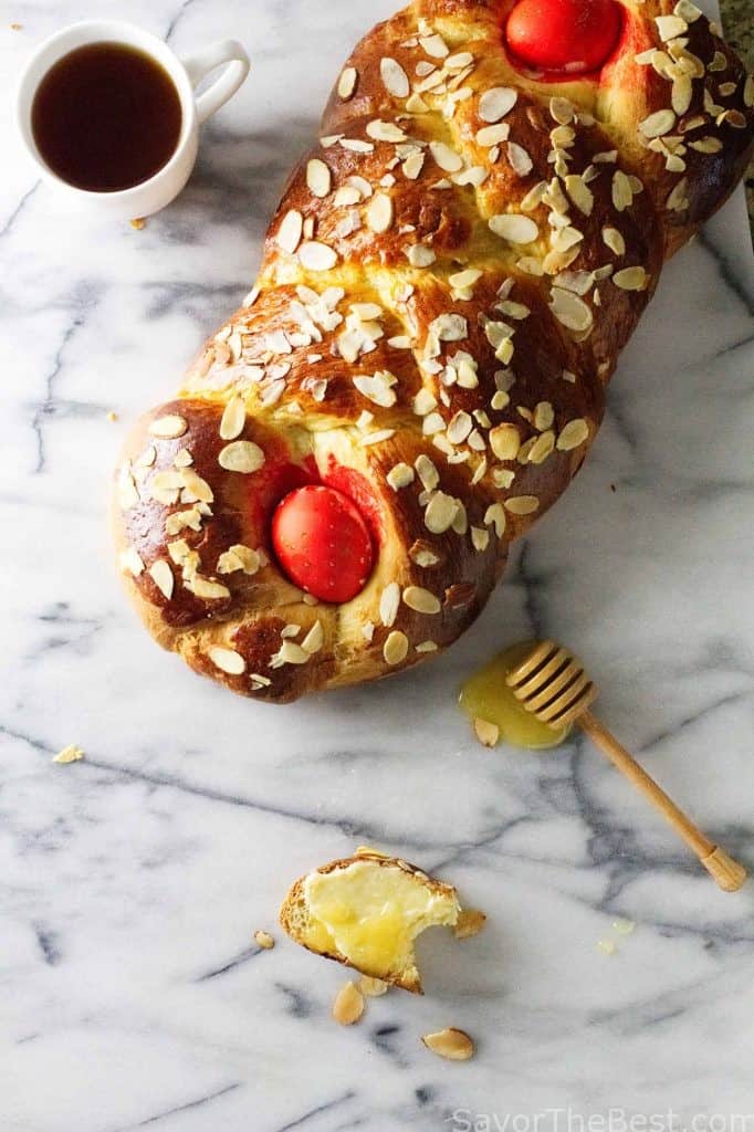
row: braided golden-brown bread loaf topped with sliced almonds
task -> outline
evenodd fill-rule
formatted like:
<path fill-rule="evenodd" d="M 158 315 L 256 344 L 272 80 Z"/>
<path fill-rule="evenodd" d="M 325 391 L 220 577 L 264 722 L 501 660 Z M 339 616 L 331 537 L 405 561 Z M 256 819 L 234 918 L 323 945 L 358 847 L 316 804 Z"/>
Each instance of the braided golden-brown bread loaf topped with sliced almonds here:
<path fill-rule="evenodd" d="M 372 679 L 470 625 L 581 466 L 663 260 L 745 169 L 754 83 L 689 0 L 549 2 L 583 10 L 584 59 L 618 5 L 601 67 L 514 60 L 512 0 L 414 0 L 367 35 L 257 285 L 128 440 L 128 589 L 234 692 Z M 337 529 L 288 569 L 271 525 L 305 486 Z M 317 601 L 328 573 L 349 600 Z"/>

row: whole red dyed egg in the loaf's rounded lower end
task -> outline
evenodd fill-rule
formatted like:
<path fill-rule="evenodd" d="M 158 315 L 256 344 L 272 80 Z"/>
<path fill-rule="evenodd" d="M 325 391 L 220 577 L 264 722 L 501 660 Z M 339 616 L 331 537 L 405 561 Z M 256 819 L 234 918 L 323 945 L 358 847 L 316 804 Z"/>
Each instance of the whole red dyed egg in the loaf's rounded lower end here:
<path fill-rule="evenodd" d="M 320 601 L 350 601 L 371 573 L 367 524 L 334 488 L 309 484 L 285 496 L 273 515 L 272 539 L 285 574 Z"/>

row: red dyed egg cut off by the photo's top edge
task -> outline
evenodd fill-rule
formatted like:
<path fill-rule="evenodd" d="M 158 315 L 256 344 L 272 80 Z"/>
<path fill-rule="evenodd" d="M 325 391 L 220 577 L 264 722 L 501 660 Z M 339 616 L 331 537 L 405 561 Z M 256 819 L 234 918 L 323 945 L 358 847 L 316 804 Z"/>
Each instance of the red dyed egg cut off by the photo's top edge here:
<path fill-rule="evenodd" d="M 511 52 L 535 70 L 599 70 L 620 35 L 615 0 L 519 0 L 505 28 Z"/>

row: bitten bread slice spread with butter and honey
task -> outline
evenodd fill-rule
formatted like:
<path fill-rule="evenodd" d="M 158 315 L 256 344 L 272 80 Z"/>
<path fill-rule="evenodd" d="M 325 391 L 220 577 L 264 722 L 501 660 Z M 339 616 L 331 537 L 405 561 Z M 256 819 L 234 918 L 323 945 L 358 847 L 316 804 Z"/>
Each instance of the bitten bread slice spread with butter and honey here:
<path fill-rule="evenodd" d="M 423 994 L 413 941 L 428 927 L 453 927 L 455 889 L 396 857 L 359 850 L 292 885 L 280 923 L 292 940 L 414 994 Z"/>

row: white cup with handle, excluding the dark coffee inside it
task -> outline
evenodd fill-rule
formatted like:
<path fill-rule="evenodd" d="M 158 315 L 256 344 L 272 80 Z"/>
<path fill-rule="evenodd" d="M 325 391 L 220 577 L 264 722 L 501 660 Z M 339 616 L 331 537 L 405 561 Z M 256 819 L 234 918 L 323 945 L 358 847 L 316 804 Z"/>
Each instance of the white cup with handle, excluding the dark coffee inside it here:
<path fill-rule="evenodd" d="M 32 106 L 40 83 L 59 59 L 85 44 L 104 42 L 136 48 L 164 68 L 180 98 L 181 131 L 172 157 L 147 181 L 114 192 L 92 192 L 63 181 L 45 163 L 34 140 Z M 202 79 L 223 63 L 229 66 L 206 91 L 197 95 L 195 91 Z M 235 94 L 248 72 L 249 58 L 235 40 L 223 40 L 181 60 L 162 40 L 132 24 L 110 19 L 85 20 L 45 40 L 32 57 L 18 87 L 18 128 L 44 180 L 72 203 L 113 218 L 149 216 L 169 205 L 182 190 L 196 163 L 199 126 Z"/>

